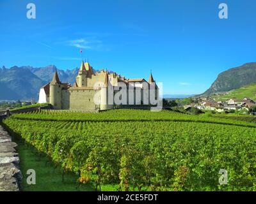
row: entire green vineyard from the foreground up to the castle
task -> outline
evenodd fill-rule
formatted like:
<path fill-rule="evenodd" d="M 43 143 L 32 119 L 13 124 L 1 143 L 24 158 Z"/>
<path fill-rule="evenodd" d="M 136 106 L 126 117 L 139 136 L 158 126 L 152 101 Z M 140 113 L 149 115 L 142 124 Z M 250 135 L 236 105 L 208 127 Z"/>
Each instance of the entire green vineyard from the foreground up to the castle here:
<path fill-rule="evenodd" d="M 256 191 L 255 123 L 148 110 L 40 110 L 4 125 L 83 185 L 120 191 Z M 220 169 L 228 184 L 220 185 Z"/>

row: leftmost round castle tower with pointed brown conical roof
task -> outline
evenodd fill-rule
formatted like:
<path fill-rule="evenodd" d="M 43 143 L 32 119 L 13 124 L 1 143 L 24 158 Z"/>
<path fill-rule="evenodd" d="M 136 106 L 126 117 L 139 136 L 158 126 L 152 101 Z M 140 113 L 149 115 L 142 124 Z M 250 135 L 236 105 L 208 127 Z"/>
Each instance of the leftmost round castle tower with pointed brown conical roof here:
<path fill-rule="evenodd" d="M 52 82 L 50 84 L 50 103 L 54 109 L 61 109 L 61 89 L 62 85 L 60 79 L 58 77 L 57 70 L 52 78 Z"/>

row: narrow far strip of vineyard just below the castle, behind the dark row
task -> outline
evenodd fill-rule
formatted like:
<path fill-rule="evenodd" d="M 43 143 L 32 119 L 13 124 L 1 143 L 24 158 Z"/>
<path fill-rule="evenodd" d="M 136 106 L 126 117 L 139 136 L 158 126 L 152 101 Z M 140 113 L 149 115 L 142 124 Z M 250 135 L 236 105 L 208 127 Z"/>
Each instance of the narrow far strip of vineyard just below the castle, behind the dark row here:
<path fill-rule="evenodd" d="M 37 110 L 31 113 L 15 114 L 13 119 L 63 121 L 63 122 L 147 122 L 147 121 L 174 121 L 174 122 L 206 122 L 214 124 L 229 124 L 234 126 L 256 127 L 250 121 L 237 121 L 234 117 L 221 118 L 212 115 L 186 115 L 184 113 L 164 110 L 150 112 L 148 110 L 109 110 L 100 113 L 83 113 L 56 110 Z"/>

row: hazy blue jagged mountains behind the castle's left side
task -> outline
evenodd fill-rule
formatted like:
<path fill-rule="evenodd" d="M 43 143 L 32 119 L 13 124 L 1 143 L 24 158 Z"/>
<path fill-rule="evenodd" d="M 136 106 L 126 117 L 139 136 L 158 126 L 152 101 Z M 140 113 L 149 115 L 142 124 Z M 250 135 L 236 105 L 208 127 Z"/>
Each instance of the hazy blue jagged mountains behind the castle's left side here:
<path fill-rule="evenodd" d="M 61 82 L 73 84 L 79 68 L 62 69 L 54 65 L 42 68 L 31 66 L 13 66 L 7 69 L 0 68 L 0 100 L 30 100 L 38 99 L 40 87 L 51 82 L 54 71 L 57 69 Z"/>

